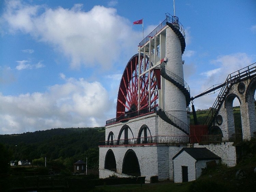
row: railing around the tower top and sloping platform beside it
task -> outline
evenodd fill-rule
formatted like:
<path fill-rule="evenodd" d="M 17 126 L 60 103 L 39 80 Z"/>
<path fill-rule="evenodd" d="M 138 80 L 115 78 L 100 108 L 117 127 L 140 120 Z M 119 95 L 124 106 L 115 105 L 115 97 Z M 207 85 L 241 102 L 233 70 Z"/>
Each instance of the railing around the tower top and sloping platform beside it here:
<path fill-rule="evenodd" d="M 155 35 L 157 35 L 158 32 L 160 32 L 165 26 L 166 26 L 166 22 L 168 23 L 174 23 L 175 25 L 177 25 L 179 27 L 179 30 L 181 32 L 181 34 L 184 36 L 185 38 L 185 30 L 184 27 L 181 25 L 181 23 L 178 21 L 178 17 L 176 16 L 172 16 L 169 13 L 166 13 L 166 19 L 160 23 L 159 26 L 157 26 L 150 34 L 148 34 L 140 43 L 139 46 L 143 46 L 145 45 L 150 37 L 154 37 Z"/>

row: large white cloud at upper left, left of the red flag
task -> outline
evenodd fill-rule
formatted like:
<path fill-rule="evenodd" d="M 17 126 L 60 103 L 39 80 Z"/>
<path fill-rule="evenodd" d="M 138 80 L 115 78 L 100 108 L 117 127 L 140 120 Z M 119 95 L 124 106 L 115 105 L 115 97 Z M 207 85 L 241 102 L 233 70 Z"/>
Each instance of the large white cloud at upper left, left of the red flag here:
<path fill-rule="evenodd" d="M 134 45 L 141 36 L 132 31 L 129 20 L 117 15 L 116 9 L 94 6 L 83 12 L 81 7 L 75 4 L 72 9 L 49 9 L 10 0 L 6 1 L 3 19 L 9 30 L 30 34 L 53 46 L 70 58 L 74 68 L 80 64 L 109 68 L 121 58 L 121 52 L 137 51 Z"/>

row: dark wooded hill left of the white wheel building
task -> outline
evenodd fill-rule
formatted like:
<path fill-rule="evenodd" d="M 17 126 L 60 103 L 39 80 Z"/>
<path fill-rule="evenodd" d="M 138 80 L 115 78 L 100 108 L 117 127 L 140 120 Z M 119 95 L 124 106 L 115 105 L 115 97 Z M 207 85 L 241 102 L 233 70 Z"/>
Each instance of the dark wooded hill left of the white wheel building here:
<path fill-rule="evenodd" d="M 99 141 L 105 140 L 105 128 L 55 128 L 23 134 L 0 135 L 12 153 L 12 160 L 44 165 L 72 167 L 78 160 L 88 160 L 89 168 L 99 165 Z"/>

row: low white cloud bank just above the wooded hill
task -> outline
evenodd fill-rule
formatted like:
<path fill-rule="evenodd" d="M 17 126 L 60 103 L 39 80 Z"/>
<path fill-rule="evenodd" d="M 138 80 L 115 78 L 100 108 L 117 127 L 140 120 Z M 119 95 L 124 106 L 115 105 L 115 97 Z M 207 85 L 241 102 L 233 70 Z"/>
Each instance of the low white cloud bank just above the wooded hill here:
<path fill-rule="evenodd" d="M 105 120 L 114 116 L 114 105 L 105 88 L 84 79 L 66 79 L 65 84 L 53 85 L 45 93 L 0 93 L 0 103 L 1 134 L 104 126 Z"/>

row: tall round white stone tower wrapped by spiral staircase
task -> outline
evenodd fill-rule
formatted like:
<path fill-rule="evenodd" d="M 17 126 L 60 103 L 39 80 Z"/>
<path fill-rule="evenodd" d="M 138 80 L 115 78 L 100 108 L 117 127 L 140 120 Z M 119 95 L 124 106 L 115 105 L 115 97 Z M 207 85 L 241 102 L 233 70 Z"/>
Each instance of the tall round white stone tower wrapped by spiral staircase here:
<path fill-rule="evenodd" d="M 171 17 L 167 17 L 170 18 Z M 187 103 L 186 96 L 179 86 L 184 86 L 183 61 L 182 54 L 185 49 L 184 30 L 178 22 L 178 17 L 172 16 L 166 29 L 166 73 L 174 81 L 164 80 L 163 92 L 163 110 L 172 114 L 182 122 L 187 123 Z M 183 31 L 180 31 L 183 30 Z M 183 50 L 182 50 L 183 49 Z M 178 85 L 176 83 L 179 83 Z M 188 86 L 187 86 L 188 87 Z M 189 91 L 189 90 L 188 90 Z M 189 99 L 189 98 L 188 98 Z M 188 101 L 189 102 L 189 101 Z"/>

